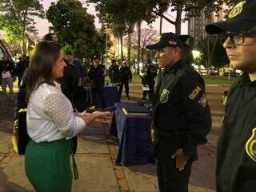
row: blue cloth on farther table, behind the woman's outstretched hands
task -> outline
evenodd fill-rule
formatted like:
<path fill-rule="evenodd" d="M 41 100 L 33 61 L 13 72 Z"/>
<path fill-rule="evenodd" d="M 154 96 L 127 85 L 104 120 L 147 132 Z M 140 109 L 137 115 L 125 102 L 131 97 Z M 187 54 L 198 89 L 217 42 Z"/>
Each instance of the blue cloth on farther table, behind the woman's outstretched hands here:
<path fill-rule="evenodd" d="M 85 87 L 87 94 L 87 104 L 90 104 L 90 87 Z M 104 94 L 106 100 L 106 107 L 114 106 L 115 103 L 120 102 L 120 96 L 118 93 L 118 88 L 114 86 L 104 86 Z M 96 98 L 96 108 L 102 108 L 102 102 L 99 96 Z"/>

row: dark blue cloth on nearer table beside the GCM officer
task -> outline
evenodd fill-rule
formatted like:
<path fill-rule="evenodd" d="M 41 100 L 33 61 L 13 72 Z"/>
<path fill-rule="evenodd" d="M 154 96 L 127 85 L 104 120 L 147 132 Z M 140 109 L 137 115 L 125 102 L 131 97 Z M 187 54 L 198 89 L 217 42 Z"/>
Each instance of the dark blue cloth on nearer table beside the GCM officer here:
<path fill-rule="evenodd" d="M 118 139 L 117 165 L 130 166 L 154 163 L 150 125 L 152 116 L 126 116 L 122 108 L 137 103 L 117 103 L 112 117 L 110 134 Z"/>

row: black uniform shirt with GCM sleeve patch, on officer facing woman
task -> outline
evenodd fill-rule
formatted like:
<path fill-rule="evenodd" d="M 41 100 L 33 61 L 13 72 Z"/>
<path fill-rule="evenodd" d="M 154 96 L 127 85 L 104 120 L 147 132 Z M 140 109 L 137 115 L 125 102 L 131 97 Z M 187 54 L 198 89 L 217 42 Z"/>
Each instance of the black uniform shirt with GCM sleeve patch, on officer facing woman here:
<path fill-rule="evenodd" d="M 186 132 L 183 150 L 196 153 L 210 131 L 205 84 L 190 65 L 178 61 L 158 75 L 154 94 L 154 128 L 160 133 Z"/>

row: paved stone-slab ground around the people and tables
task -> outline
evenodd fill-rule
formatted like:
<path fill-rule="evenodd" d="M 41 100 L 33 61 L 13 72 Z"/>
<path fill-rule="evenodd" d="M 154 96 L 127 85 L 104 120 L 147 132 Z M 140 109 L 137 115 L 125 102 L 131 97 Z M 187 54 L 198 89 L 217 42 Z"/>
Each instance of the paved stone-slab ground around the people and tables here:
<path fill-rule="evenodd" d="M 214 187 L 214 167 L 216 143 L 224 108 L 220 103 L 222 93 L 228 87 L 207 87 L 207 97 L 213 119 L 213 128 L 208 135 L 209 142 L 198 147 L 199 159 L 194 163 L 190 178 L 190 192 L 212 192 Z M 139 85 L 131 86 L 131 99 L 142 97 Z M 125 100 L 124 100 L 125 101 Z M 12 101 L 0 103 L 0 192 L 34 191 L 27 181 L 24 157 L 14 153 L 11 143 Z M 4 110 L 2 110 L 4 109 Z M 7 110 L 6 110 L 7 109 Z M 153 164 L 133 167 L 115 166 L 118 146 L 109 135 L 110 118 L 97 120 L 78 137 L 76 155 L 79 179 L 73 182 L 73 191 L 158 191 Z"/>

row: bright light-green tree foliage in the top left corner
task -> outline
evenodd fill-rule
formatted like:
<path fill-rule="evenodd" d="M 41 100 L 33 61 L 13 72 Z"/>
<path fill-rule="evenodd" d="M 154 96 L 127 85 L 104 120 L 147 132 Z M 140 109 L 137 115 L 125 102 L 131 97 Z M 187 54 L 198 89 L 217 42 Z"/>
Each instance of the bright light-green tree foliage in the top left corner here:
<path fill-rule="evenodd" d="M 45 18 L 40 0 L 0 0 L 0 26 L 6 41 L 18 41 L 23 52 L 26 52 L 26 38 L 30 33 L 37 33 L 34 17 Z"/>

